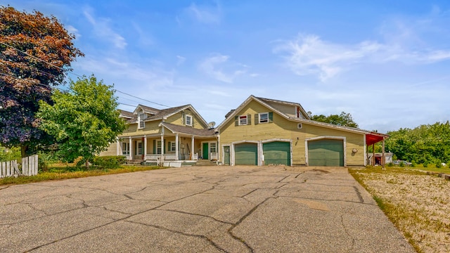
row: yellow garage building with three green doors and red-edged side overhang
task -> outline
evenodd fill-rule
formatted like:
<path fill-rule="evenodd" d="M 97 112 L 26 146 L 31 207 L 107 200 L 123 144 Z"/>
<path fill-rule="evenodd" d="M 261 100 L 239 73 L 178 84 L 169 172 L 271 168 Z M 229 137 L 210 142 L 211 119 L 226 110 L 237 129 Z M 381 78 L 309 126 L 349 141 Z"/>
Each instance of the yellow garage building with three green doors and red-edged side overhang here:
<path fill-rule="evenodd" d="M 250 96 L 215 129 L 226 165 L 365 166 L 366 145 L 387 138 L 309 119 L 299 103 Z"/>

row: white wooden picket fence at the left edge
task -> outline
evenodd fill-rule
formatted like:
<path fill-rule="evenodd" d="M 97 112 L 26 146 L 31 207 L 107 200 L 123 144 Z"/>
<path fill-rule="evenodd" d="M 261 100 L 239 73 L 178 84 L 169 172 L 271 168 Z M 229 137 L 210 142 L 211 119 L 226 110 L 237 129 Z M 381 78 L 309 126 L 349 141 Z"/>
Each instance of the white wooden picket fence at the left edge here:
<path fill-rule="evenodd" d="M 0 179 L 7 176 L 34 176 L 37 175 L 37 155 L 23 157 L 22 164 L 18 164 L 17 160 L 0 162 Z M 21 165 L 21 166 L 19 166 Z M 19 168 L 21 167 L 21 169 Z"/>

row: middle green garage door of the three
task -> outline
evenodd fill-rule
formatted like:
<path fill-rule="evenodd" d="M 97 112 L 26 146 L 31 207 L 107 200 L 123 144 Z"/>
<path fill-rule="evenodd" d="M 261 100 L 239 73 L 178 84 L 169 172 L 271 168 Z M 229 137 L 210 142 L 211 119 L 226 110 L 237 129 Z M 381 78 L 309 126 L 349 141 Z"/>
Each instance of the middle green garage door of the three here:
<path fill-rule="evenodd" d="M 284 164 L 290 166 L 290 143 L 274 141 L 262 145 L 264 164 Z"/>

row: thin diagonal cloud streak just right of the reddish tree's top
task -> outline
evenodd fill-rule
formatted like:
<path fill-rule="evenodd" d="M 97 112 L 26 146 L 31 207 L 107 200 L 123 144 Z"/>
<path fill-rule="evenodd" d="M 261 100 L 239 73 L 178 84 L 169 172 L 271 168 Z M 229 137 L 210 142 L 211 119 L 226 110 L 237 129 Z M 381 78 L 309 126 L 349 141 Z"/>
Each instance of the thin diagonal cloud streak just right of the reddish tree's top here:
<path fill-rule="evenodd" d="M 100 39 L 106 39 L 110 41 L 117 48 L 125 48 L 127 46 L 127 41 L 117 32 L 114 32 L 110 27 L 110 20 L 106 18 L 94 18 L 91 14 L 91 10 L 86 9 L 84 12 L 84 17 L 91 23 L 94 27 L 94 34 Z"/>

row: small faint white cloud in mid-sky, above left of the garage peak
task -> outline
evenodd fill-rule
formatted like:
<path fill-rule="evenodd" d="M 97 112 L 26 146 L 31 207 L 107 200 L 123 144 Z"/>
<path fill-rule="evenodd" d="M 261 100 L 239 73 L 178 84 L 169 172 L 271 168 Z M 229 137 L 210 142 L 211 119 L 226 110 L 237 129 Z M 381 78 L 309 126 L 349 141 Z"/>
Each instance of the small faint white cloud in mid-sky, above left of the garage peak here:
<path fill-rule="evenodd" d="M 236 77 L 247 72 L 246 68 L 245 65 L 240 63 L 229 62 L 229 56 L 221 54 L 214 54 L 203 60 L 199 65 L 199 69 L 205 72 L 205 74 L 226 83 L 233 83 Z"/>

